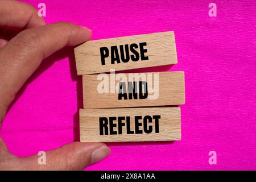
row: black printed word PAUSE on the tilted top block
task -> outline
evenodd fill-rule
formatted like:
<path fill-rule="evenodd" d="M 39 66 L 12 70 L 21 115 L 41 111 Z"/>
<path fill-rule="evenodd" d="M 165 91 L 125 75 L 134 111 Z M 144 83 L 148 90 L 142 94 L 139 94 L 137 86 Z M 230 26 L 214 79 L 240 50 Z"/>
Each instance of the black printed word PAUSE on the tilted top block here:
<path fill-rule="evenodd" d="M 117 46 L 111 46 L 110 47 L 110 54 L 109 54 L 109 48 L 108 47 L 100 47 L 101 52 L 101 65 L 106 64 L 106 58 L 110 56 L 111 64 L 115 63 L 128 63 L 130 60 L 132 61 L 138 61 L 141 57 L 141 60 L 148 60 L 148 56 L 145 56 L 145 53 L 147 52 L 147 49 L 144 48 L 144 46 L 147 46 L 146 42 L 142 42 L 138 44 L 125 44 L 119 46 L 119 51 Z M 139 51 L 137 51 L 139 49 Z M 130 53 L 131 52 L 131 53 Z"/>

